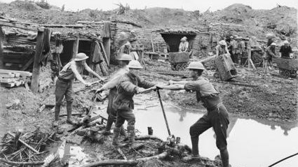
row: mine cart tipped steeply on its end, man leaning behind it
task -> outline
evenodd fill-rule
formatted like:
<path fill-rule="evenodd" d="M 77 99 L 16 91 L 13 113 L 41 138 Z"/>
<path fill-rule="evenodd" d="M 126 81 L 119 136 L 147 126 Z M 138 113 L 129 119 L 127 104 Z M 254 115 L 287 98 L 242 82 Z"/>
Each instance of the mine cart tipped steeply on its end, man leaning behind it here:
<path fill-rule="evenodd" d="M 229 55 L 219 55 L 215 57 L 214 61 L 221 80 L 225 81 L 236 77 L 237 71 Z"/>

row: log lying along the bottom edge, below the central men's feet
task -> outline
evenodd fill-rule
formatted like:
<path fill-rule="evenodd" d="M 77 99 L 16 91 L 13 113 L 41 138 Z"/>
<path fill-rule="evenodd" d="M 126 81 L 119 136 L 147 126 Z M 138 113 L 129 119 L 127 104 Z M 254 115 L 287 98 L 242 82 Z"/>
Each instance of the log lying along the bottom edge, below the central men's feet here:
<path fill-rule="evenodd" d="M 85 164 L 79 167 L 95 167 L 95 166 L 135 166 L 137 165 L 135 160 L 120 160 L 120 159 L 109 159 L 104 161 L 97 161 L 92 164 Z"/>

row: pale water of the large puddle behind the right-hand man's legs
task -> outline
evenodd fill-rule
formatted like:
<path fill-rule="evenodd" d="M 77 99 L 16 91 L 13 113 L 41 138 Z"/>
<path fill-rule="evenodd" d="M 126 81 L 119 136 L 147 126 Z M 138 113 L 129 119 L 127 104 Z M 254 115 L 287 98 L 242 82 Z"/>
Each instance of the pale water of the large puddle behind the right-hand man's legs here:
<path fill-rule="evenodd" d="M 203 116 L 203 110 L 180 110 L 165 106 L 170 131 L 181 138 L 181 143 L 191 146 L 189 126 Z M 135 110 L 136 127 L 141 134 L 147 134 L 151 126 L 154 136 L 166 140 L 168 131 L 165 126 L 160 106 Z M 251 167 L 269 166 L 280 159 L 298 152 L 298 126 L 294 124 L 278 124 L 261 122 L 254 119 L 239 119 L 230 115 L 228 149 L 232 166 Z M 215 145 L 215 133 L 208 129 L 200 136 L 200 154 L 214 159 L 219 150 Z M 298 166 L 298 156 L 287 159 L 275 167 Z"/>

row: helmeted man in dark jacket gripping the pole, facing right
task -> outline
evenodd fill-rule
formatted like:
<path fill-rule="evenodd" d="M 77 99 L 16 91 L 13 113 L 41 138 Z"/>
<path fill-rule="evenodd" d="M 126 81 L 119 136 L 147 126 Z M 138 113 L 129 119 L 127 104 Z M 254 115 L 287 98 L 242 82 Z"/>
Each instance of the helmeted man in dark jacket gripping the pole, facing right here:
<path fill-rule="evenodd" d="M 129 72 L 120 78 L 117 85 L 117 94 L 114 98 L 113 104 L 113 108 L 117 112 L 117 118 L 112 145 L 116 147 L 124 146 L 118 142 L 118 138 L 120 135 L 121 126 L 125 121 L 128 122 L 127 129 L 129 144 L 133 145 L 135 142 L 135 115 L 133 114 L 133 96 L 135 94 L 142 93 L 145 89 L 154 87 L 155 85 L 137 76 L 137 71 L 142 68 L 139 61 L 132 60 L 127 67 L 129 68 Z"/>

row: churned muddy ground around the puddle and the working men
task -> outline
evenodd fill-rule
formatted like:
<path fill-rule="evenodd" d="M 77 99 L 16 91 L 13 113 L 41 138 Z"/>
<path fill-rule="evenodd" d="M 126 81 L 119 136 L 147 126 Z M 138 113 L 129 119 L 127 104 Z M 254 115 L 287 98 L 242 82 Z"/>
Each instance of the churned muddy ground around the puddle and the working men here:
<path fill-rule="evenodd" d="M 189 80 L 187 78 L 188 71 L 169 71 L 170 65 L 166 62 L 151 62 L 152 65 L 147 65 L 147 70 L 140 71 L 142 78 L 146 78 L 151 82 L 166 82 L 168 80 Z M 111 67 L 114 71 L 117 66 Z M 257 71 L 252 71 L 248 68 L 238 68 L 238 77 L 234 78 L 237 82 L 222 82 L 219 78 L 215 78 L 215 71 L 206 71 L 203 75 L 208 78 L 219 89 L 224 105 L 230 113 L 237 117 L 250 117 L 264 120 L 271 120 L 283 124 L 287 122 L 297 122 L 297 78 L 283 78 L 278 74 L 278 69 L 271 71 L 271 75 L 263 75 L 262 68 L 257 68 Z M 96 80 L 95 78 L 87 78 L 89 81 Z M 81 83 L 76 83 L 74 89 L 82 87 Z M 96 89 L 99 85 L 93 87 Z M 1 135 L 5 130 L 15 131 L 22 129 L 23 131 L 32 131 L 37 126 L 41 131 L 50 133 L 53 122 L 53 106 L 55 105 L 54 90 L 55 86 L 50 87 L 41 94 L 33 94 L 25 87 L 15 87 L 6 89 L 0 87 L 1 90 Z M 74 111 L 81 112 L 83 106 L 91 106 L 93 102 L 91 98 L 93 92 L 91 89 L 78 92 L 75 94 Z M 196 109 L 203 109 L 201 103 L 197 103 L 195 93 L 184 91 L 165 91 L 162 90 L 162 98 L 165 103 L 172 103 L 179 108 L 187 108 L 191 112 L 196 112 Z M 18 105 L 11 106 L 10 103 L 19 99 Z M 46 104 L 46 109 L 38 112 L 38 108 Z M 140 94 L 135 96 L 136 108 L 146 108 L 146 106 L 159 105 L 155 92 L 149 94 Z M 107 101 L 96 102 L 95 112 L 92 116 L 102 115 L 107 117 L 106 108 Z M 66 113 L 66 107 L 62 106 L 62 113 Z M 65 124 L 65 119 L 62 119 Z M 66 127 L 67 129 L 68 127 Z M 61 140 L 69 138 L 69 133 L 64 131 L 57 135 Z M 118 152 L 111 147 L 111 138 L 104 138 L 102 143 L 90 143 L 90 140 L 84 140 L 83 137 L 76 136 L 68 139 L 69 143 L 81 145 L 85 149 L 85 153 L 90 155 L 93 161 L 102 159 L 122 159 Z M 142 156 L 149 156 L 152 152 L 157 152 L 157 146 L 151 145 L 154 142 L 138 141 L 145 143 L 148 149 L 144 149 Z M 140 156 L 136 152 L 123 149 L 123 152 L 128 155 L 128 159 Z M 209 164 L 208 164 L 209 163 Z M 139 166 L 215 166 L 218 162 L 210 161 L 194 161 L 185 164 L 180 158 L 168 157 L 165 160 L 154 160 L 139 164 Z"/>

